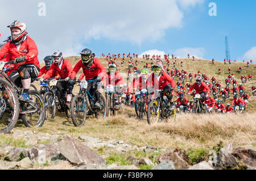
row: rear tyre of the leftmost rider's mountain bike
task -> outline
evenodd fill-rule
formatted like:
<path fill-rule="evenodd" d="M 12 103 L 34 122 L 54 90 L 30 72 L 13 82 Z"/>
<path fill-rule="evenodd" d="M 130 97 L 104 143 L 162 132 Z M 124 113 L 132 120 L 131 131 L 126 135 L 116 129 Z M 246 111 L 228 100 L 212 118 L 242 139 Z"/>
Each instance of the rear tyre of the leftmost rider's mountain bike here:
<path fill-rule="evenodd" d="M 40 106 L 40 108 L 38 110 L 38 111 L 40 111 L 40 114 L 39 114 L 38 111 L 33 113 L 33 115 L 35 117 L 38 117 L 36 115 L 39 115 L 39 119 L 36 118 L 37 121 L 33 121 L 33 123 L 31 121 L 31 119 L 28 120 L 27 116 L 31 117 L 32 113 L 23 113 L 22 116 L 21 116 L 21 119 L 22 119 L 24 125 L 26 125 L 26 127 L 30 127 L 30 128 L 42 127 L 43 124 L 44 124 L 44 120 L 46 119 L 46 109 L 44 107 L 44 100 L 42 98 L 42 95 L 40 95 L 39 92 L 35 91 L 35 90 L 29 91 L 28 95 L 30 96 L 30 98 L 32 96 L 35 96 L 36 99 L 33 100 L 33 102 L 38 103 L 35 107 L 39 107 Z M 26 107 L 28 107 L 28 105 L 31 104 L 31 103 L 32 102 L 30 102 L 30 103 L 23 103 L 23 108 L 25 107 L 25 104 L 26 104 Z M 26 111 L 26 110 L 23 110 L 23 111 Z"/>

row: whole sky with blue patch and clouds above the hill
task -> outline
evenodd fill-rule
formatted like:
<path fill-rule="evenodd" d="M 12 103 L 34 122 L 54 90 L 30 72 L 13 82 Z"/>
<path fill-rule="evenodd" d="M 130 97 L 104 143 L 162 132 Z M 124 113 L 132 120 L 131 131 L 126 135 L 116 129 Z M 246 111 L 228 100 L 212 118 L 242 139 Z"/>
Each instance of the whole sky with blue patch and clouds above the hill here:
<path fill-rule="evenodd" d="M 40 2 L 46 5 L 46 16 L 38 15 Z M 217 16 L 209 16 L 210 2 L 216 3 Z M 13 3 L 22 13 L 10 13 Z M 26 23 L 40 60 L 55 50 L 69 56 L 86 47 L 97 56 L 159 50 L 223 61 L 228 36 L 232 60 L 255 61 L 255 8 L 255 0 L 3 0 L 0 32 L 3 40 L 10 35 L 6 26 L 13 20 Z"/>

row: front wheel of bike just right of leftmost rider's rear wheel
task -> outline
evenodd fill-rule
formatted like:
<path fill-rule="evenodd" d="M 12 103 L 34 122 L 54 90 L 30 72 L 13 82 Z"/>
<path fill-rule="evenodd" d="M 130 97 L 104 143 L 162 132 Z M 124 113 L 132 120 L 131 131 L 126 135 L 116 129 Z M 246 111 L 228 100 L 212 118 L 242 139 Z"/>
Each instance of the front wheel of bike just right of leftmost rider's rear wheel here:
<path fill-rule="evenodd" d="M 46 92 L 43 96 L 44 107 L 46 108 L 46 120 L 53 119 L 56 113 L 56 101 L 52 92 Z"/>

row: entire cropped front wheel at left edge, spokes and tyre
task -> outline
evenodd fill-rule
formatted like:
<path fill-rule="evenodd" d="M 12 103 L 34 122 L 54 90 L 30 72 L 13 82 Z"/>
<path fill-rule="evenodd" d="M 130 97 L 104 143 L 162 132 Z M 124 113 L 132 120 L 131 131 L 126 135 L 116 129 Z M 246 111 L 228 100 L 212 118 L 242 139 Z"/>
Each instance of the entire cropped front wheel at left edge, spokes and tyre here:
<path fill-rule="evenodd" d="M 19 117 L 19 100 L 13 86 L 0 78 L 0 132 L 9 133 Z"/>

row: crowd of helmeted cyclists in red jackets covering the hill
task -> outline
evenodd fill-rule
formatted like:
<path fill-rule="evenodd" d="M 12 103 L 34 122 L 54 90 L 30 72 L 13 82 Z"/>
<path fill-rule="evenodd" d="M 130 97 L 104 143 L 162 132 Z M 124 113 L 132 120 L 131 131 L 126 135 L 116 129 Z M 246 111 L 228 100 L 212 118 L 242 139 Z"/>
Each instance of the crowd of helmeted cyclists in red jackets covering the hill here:
<path fill-rule="evenodd" d="M 46 82 L 47 80 L 54 79 L 59 80 L 57 82 L 58 89 L 65 95 L 65 108 L 67 110 L 72 109 L 71 103 L 73 98 L 73 87 L 76 83 L 81 83 L 83 79 L 86 81 L 86 89 L 89 95 L 95 96 L 94 106 L 99 110 L 104 107 L 101 100 L 101 89 L 106 90 L 109 85 L 112 85 L 118 89 L 114 91 L 114 110 L 121 109 L 122 104 L 128 104 L 136 107 L 136 100 L 142 90 L 151 90 L 148 95 L 149 100 L 157 98 L 157 90 L 164 92 L 164 98 L 170 105 L 170 110 L 182 110 L 188 112 L 199 112 L 196 106 L 196 99 L 200 98 L 199 106 L 201 112 L 213 112 L 217 113 L 232 113 L 236 110 L 245 111 L 248 101 L 250 99 L 247 92 L 245 92 L 245 84 L 253 79 L 253 76 L 249 74 L 241 76 L 241 82 L 238 86 L 237 80 L 229 68 L 229 75 L 225 79 L 225 87 L 221 87 L 220 82 L 216 78 L 209 79 L 207 75 L 202 74 L 201 71 L 194 73 L 188 73 L 185 70 L 178 70 L 176 67 L 177 57 L 174 54 L 165 54 L 164 57 L 149 54 L 142 56 L 144 60 L 148 62 L 143 66 L 143 69 L 138 69 L 138 54 L 110 54 L 105 56 L 102 53 L 102 57 L 108 61 L 108 71 L 106 72 L 105 66 L 102 64 L 92 50 L 85 48 L 80 52 L 81 60 L 77 62 L 75 67 L 71 65 L 67 59 L 64 58 L 63 53 L 59 50 L 50 54 L 44 58 L 45 66 L 40 69 L 38 60 L 38 48 L 35 41 L 28 36 L 26 24 L 18 21 L 14 21 L 8 26 L 11 31 L 11 36 L 7 39 L 6 43 L 1 46 L 0 60 L 2 62 L 13 61 L 13 63 L 6 64 L 5 68 L 8 69 L 6 74 L 16 86 L 20 87 L 22 95 L 19 97 L 19 102 L 29 103 L 31 101 L 30 91 L 31 83 L 36 80 L 40 82 Z M 122 58 L 121 67 L 127 66 L 128 81 L 122 77 L 121 73 L 118 73 L 117 58 Z M 188 58 L 195 61 L 194 56 L 188 54 Z M 170 60 L 172 59 L 172 68 Z M 164 62 L 163 62 L 164 61 Z M 214 64 L 214 59 L 212 60 Z M 250 62 L 247 62 L 249 66 Z M 126 64 L 127 63 L 127 64 Z M 164 66 L 166 64 L 166 66 Z M 184 62 L 179 62 L 183 67 Z M 224 60 L 226 64 L 226 60 Z M 231 61 L 229 60 L 229 64 Z M 79 70 L 82 69 L 82 74 L 79 78 L 76 78 Z M 218 72 L 221 73 L 221 69 Z M 242 68 L 239 70 L 242 71 Z M 151 73 L 150 73 L 151 72 Z M 134 74 L 134 79 L 131 81 L 131 75 Z M 175 79 L 178 81 L 175 82 Z M 193 83 L 195 79 L 195 83 Z M 61 81 L 60 81 L 61 80 Z M 233 89 L 231 89 L 233 86 Z M 176 92 L 175 92 L 176 90 Z M 251 87 L 253 95 L 255 96 L 255 86 Z M 233 100 L 231 103 L 224 103 L 229 98 L 231 92 L 233 93 Z M 187 97 L 186 97 L 187 94 Z M 220 96 L 222 100 L 217 97 Z M 175 97 L 177 98 L 175 100 Z M 106 100 L 105 105 L 108 105 Z M 147 104 L 145 112 L 147 111 Z M 137 107 L 138 108 L 138 107 Z M 87 115 L 92 113 L 92 109 L 87 112 Z"/>

